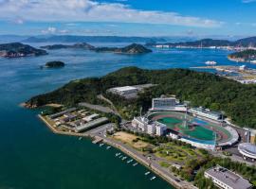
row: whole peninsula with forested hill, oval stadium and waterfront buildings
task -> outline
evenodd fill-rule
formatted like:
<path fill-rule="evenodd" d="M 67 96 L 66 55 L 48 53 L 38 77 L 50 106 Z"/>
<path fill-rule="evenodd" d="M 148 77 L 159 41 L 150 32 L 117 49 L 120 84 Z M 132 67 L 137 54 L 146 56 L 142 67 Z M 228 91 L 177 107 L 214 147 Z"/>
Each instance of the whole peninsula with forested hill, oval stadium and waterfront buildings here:
<path fill-rule="evenodd" d="M 247 106 L 255 106 L 255 97 L 245 95 L 255 90 L 192 70 L 127 67 L 104 77 L 73 80 L 52 93 L 32 97 L 27 107 L 63 104 L 39 115 L 49 129 L 80 140 L 90 137 L 94 144 L 106 149 L 119 148 L 122 152 L 117 152 L 116 158 L 133 166 L 144 164 L 150 170 L 144 173 L 149 180 L 156 178 L 152 171 L 176 188 L 214 188 L 204 173 L 216 163 L 227 171 L 232 167 L 231 171 L 247 184 L 245 188 L 250 188 L 256 180 L 255 166 L 223 158 L 223 154 L 230 153 L 225 147 L 239 140 L 237 128 L 220 112 L 192 106 L 208 106 L 214 111 L 228 107 L 225 111 L 233 120 L 244 116 L 245 123 L 253 123 L 255 113 L 247 112 Z M 183 103 L 186 99 L 191 101 L 189 106 Z M 147 112 L 139 112 L 140 107 Z M 243 112 L 237 113 L 239 110 Z M 218 150 L 212 153 L 214 149 L 224 149 L 223 154 Z M 253 174 L 248 175 L 248 171 Z M 227 179 L 224 182 L 229 184 Z"/>

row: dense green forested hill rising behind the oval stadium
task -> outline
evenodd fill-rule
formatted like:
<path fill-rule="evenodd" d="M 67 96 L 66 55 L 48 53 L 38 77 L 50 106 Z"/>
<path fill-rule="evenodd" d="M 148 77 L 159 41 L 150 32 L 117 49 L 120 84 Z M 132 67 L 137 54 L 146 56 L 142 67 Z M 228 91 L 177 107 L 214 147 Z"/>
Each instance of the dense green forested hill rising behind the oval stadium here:
<path fill-rule="evenodd" d="M 145 83 L 158 84 L 137 99 L 127 100 L 106 90 L 117 86 Z M 97 98 L 103 94 L 113 100 L 123 117 L 131 119 L 139 114 L 140 107 L 147 110 L 151 99 L 161 94 L 175 94 L 181 100 L 191 101 L 192 106 L 203 106 L 214 111 L 224 111 L 241 127 L 256 128 L 256 86 L 243 85 L 225 77 L 200 73 L 187 69 L 144 70 L 137 67 L 122 68 L 105 77 L 88 77 L 73 80 L 48 94 L 32 97 L 26 103 L 29 108 L 49 103 L 75 105 L 79 102 L 101 104 Z"/>

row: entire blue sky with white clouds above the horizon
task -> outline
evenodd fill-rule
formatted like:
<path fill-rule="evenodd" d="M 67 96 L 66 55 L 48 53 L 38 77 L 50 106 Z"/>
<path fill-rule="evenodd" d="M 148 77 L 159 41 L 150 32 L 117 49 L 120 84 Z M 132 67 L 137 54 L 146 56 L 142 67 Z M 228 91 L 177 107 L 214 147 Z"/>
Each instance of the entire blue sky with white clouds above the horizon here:
<path fill-rule="evenodd" d="M 0 0 L 0 34 L 254 36 L 256 0 Z"/>

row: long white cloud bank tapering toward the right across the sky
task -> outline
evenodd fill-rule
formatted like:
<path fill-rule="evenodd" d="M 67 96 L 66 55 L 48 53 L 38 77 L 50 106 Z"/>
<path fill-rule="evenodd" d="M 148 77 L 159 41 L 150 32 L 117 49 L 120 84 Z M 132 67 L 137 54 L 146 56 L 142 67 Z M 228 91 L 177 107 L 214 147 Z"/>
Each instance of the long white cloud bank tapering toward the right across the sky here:
<path fill-rule="evenodd" d="M 121 22 L 216 27 L 215 20 L 175 12 L 132 9 L 121 3 L 92 0 L 0 0 L 0 19 L 22 17 L 34 22 Z"/>

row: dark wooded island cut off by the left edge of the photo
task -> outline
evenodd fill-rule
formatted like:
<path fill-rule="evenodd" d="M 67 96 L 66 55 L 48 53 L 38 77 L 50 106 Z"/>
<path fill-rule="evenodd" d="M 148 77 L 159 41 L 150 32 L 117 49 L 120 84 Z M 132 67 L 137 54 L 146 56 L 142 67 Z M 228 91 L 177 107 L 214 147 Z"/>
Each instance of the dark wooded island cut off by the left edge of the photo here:
<path fill-rule="evenodd" d="M 34 48 L 23 43 L 2 43 L 0 44 L 0 57 L 20 58 L 28 56 L 47 55 L 46 50 Z"/>

